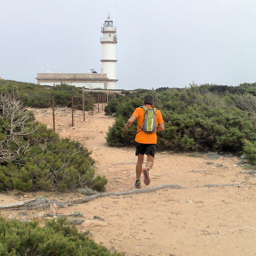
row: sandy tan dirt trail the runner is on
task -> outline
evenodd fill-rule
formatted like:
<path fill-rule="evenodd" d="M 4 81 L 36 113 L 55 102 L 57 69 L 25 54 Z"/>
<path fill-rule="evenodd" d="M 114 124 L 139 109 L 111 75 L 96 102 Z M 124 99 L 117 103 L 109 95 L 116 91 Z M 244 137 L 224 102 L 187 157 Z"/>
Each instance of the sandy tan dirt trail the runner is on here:
<path fill-rule="evenodd" d="M 52 127 L 51 109 L 33 110 L 38 121 Z M 105 143 L 113 118 L 104 113 L 55 111 L 56 132 L 70 137 L 93 151 L 96 173 L 108 179 L 107 190 L 134 190 L 133 148 L 110 148 Z M 183 189 L 166 188 L 151 193 L 110 196 L 72 207 L 38 210 L 2 210 L 7 218 L 39 219 L 68 215 L 84 221 L 79 230 L 90 230 L 92 238 L 126 255 L 256 255 L 255 177 L 244 174 L 240 158 L 190 157 L 188 154 L 157 152 L 151 169 L 151 184 L 177 184 Z M 208 186 L 207 184 L 240 185 Z M 143 184 L 143 188 L 146 186 Z M 44 196 L 73 200 L 80 193 L 1 193 L 0 205 L 14 204 Z M 75 213 L 75 214 L 74 214 Z M 74 216 L 76 215 L 76 216 Z M 80 215 L 80 216 L 79 216 Z"/>

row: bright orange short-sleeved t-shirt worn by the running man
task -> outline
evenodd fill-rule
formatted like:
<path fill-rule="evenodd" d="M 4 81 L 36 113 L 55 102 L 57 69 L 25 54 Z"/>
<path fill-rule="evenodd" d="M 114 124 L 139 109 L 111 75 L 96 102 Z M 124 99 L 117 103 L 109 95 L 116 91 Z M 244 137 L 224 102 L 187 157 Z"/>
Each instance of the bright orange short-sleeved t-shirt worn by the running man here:
<path fill-rule="evenodd" d="M 152 108 L 152 107 L 149 107 Z M 142 127 L 143 124 L 143 120 L 144 120 L 144 108 L 142 107 L 137 107 L 134 112 L 133 112 L 133 116 L 137 117 L 137 132 L 140 129 L 140 127 Z M 155 110 L 155 113 L 157 114 L 156 118 L 155 118 L 155 126 L 158 126 L 158 124 L 163 123 L 163 117 L 162 117 L 162 113 L 160 112 L 160 110 Z M 140 127 L 138 127 L 140 126 Z M 142 144 L 157 144 L 157 133 L 153 132 L 153 133 L 145 133 L 143 131 L 138 132 L 135 136 L 135 141 L 137 141 L 138 143 L 142 143 Z"/>

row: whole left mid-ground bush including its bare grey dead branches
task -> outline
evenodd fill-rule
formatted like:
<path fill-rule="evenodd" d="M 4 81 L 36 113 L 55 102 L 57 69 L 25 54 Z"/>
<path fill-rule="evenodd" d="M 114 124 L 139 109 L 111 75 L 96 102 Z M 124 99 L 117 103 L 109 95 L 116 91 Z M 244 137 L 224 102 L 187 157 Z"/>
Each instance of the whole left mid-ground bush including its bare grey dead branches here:
<path fill-rule="evenodd" d="M 94 177 L 91 152 L 35 122 L 21 101 L 1 95 L 0 124 L 1 191 L 81 187 L 104 191 L 107 179 Z"/>

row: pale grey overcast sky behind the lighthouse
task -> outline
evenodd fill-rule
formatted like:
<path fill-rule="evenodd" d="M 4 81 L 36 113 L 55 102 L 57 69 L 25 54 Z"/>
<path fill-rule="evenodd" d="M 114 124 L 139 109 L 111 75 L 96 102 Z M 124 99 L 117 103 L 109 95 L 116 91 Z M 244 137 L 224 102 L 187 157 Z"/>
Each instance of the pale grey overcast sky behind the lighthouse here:
<path fill-rule="evenodd" d="M 255 0 L 1 0 L 0 77 L 101 73 L 108 12 L 118 89 L 256 82 Z"/>

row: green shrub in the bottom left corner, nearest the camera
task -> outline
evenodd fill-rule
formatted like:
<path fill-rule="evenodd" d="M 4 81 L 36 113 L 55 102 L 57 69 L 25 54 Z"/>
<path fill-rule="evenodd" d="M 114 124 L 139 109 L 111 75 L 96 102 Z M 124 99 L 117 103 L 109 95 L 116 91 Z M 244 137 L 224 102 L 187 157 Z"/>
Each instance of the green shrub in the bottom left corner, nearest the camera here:
<path fill-rule="evenodd" d="M 46 221 L 44 227 L 38 222 L 22 223 L 5 220 L 0 216 L 0 255 L 122 255 L 110 253 L 106 247 L 88 238 L 87 232 L 79 233 L 69 226 L 65 218 Z"/>

